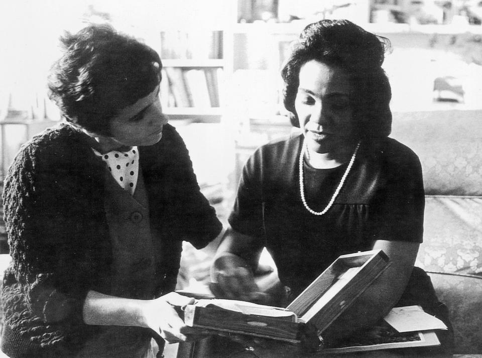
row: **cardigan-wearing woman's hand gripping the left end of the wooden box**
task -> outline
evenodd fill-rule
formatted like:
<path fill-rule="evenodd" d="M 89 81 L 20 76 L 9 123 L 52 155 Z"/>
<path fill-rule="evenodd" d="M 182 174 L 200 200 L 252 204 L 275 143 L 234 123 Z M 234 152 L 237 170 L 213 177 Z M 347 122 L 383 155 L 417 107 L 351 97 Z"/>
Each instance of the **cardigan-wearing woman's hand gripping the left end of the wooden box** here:
<path fill-rule="evenodd" d="M 157 299 L 145 301 L 141 310 L 142 320 L 168 343 L 204 338 L 209 335 L 208 330 L 187 326 L 176 312 L 175 307 L 181 308 L 191 303 L 194 303 L 191 297 L 181 296 L 175 292 L 168 293 Z"/>

